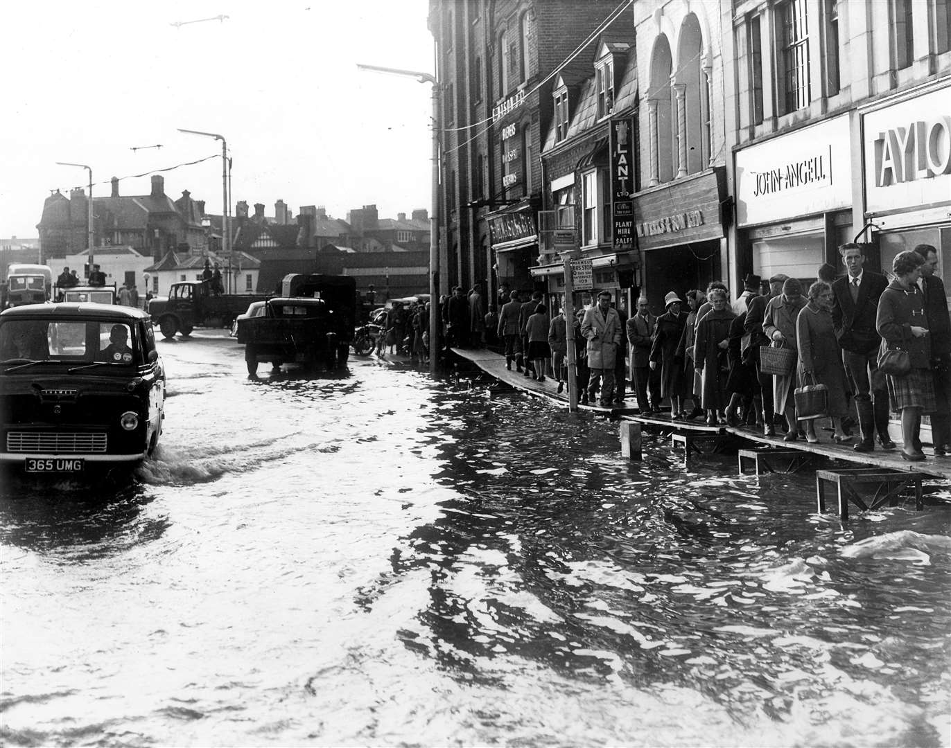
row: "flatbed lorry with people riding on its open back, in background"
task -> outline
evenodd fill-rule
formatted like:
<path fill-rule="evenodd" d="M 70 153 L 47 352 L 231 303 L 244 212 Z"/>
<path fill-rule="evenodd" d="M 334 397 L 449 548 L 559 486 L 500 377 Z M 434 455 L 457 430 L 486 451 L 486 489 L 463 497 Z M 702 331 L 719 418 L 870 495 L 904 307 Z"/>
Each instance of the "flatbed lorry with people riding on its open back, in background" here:
<path fill-rule="evenodd" d="M 157 324 L 164 337 L 191 335 L 196 327 L 231 327 L 252 301 L 263 301 L 266 294 L 211 293 L 208 280 L 173 283 L 167 299 L 153 298 L 148 304 L 152 324 Z"/>

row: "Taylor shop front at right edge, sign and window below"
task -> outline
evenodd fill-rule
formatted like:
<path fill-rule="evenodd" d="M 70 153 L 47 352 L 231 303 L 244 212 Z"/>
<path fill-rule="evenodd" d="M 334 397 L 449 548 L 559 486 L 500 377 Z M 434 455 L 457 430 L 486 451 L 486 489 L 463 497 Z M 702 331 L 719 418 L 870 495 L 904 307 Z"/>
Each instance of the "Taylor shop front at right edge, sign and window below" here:
<path fill-rule="evenodd" d="M 861 117 L 864 218 L 883 269 L 898 253 L 930 244 L 951 293 L 951 84 L 877 102 Z"/>

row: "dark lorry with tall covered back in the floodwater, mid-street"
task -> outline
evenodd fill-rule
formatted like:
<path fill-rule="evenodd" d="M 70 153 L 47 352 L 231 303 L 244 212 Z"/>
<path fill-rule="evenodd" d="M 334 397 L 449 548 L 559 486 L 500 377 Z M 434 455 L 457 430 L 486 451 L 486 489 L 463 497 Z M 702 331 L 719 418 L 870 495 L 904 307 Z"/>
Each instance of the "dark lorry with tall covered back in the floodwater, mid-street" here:
<path fill-rule="evenodd" d="M 267 299 L 264 314 L 238 320 L 248 374 L 258 364 L 275 368 L 300 363 L 327 371 L 347 362 L 357 322 L 357 282 L 348 276 L 292 273 L 281 281 L 281 296 Z"/>

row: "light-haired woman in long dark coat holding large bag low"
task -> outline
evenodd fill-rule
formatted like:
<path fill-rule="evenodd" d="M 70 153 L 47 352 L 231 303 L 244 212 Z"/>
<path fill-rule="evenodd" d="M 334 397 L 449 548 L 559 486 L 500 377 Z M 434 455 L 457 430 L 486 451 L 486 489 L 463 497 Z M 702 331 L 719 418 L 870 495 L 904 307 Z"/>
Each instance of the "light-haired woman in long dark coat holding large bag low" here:
<path fill-rule="evenodd" d="M 844 444 L 851 440 L 842 428 L 842 419 L 848 415 L 845 390 L 845 367 L 842 348 L 832 326 L 832 302 L 835 295 L 825 280 L 817 280 L 808 291 L 808 302 L 796 318 L 796 339 L 799 342 L 799 380 L 802 386 L 825 385 L 825 412 L 832 418 L 835 432 L 832 440 Z M 803 421 L 805 440 L 819 441 L 815 419 Z"/>

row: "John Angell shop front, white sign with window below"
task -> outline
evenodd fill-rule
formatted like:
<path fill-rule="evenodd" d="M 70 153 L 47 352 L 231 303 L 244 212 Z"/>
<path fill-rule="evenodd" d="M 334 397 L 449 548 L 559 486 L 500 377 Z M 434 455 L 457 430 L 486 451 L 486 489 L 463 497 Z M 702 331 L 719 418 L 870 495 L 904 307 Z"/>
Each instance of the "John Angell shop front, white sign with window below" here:
<path fill-rule="evenodd" d="M 842 270 L 837 248 L 854 237 L 850 116 L 736 151 L 734 285 L 748 273 L 811 282 L 825 262 Z"/>

